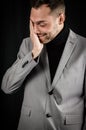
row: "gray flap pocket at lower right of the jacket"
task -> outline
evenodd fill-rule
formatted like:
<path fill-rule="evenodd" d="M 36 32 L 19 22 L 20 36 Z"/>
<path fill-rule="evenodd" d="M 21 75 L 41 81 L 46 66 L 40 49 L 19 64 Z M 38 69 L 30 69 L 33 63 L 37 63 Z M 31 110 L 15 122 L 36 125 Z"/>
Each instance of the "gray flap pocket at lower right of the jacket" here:
<path fill-rule="evenodd" d="M 83 119 L 80 115 L 66 115 L 64 125 L 73 125 L 82 123 Z"/>

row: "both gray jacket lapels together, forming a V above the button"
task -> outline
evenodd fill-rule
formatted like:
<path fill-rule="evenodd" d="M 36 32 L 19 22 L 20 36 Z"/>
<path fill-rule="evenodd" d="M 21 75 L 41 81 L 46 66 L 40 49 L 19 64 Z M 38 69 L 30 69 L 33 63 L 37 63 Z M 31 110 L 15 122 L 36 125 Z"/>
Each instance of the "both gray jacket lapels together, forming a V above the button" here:
<path fill-rule="evenodd" d="M 70 59 L 71 54 L 73 53 L 73 51 L 75 49 L 76 44 L 77 44 L 77 37 L 76 37 L 75 33 L 73 33 L 70 30 L 70 34 L 69 34 L 67 43 L 65 45 L 65 48 L 64 48 L 61 60 L 59 62 L 58 68 L 56 70 L 52 84 L 51 84 L 51 78 L 50 78 L 48 54 L 46 51 L 46 47 L 44 46 L 40 59 L 41 59 L 41 62 L 43 65 L 43 70 L 44 70 L 46 80 L 47 80 L 46 83 L 47 83 L 48 92 L 52 91 L 53 87 L 58 82 L 66 64 L 68 63 L 68 61 Z"/>

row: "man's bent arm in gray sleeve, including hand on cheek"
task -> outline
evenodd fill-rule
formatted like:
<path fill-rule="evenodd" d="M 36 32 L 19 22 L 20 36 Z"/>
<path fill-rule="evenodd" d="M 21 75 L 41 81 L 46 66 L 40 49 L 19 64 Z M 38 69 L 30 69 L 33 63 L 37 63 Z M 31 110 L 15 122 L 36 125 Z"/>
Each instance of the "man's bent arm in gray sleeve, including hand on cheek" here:
<path fill-rule="evenodd" d="M 43 44 L 40 43 L 37 35 L 34 33 L 31 21 L 30 38 L 32 48 L 30 47 L 30 41 L 23 40 L 16 62 L 6 71 L 3 77 L 1 89 L 5 93 L 12 93 L 21 87 L 26 76 L 38 64 L 34 59 L 40 55 Z"/>

